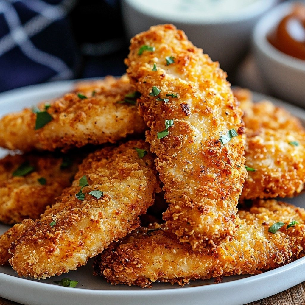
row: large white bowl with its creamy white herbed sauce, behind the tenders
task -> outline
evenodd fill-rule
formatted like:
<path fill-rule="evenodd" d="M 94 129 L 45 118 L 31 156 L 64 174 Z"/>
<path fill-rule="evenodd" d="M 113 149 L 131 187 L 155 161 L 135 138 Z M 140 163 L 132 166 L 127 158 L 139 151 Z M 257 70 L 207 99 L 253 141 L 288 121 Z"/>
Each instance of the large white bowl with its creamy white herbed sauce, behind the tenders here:
<path fill-rule="evenodd" d="M 278 0 L 122 0 L 127 38 L 173 23 L 223 70 L 234 70 L 259 18 Z"/>

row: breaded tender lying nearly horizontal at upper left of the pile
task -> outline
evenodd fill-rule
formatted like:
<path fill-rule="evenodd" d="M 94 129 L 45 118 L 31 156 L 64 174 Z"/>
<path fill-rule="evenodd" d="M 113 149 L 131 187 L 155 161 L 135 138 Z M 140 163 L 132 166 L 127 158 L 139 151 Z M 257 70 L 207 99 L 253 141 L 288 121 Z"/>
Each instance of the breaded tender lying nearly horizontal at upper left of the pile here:
<path fill-rule="evenodd" d="M 129 134 L 140 134 L 145 124 L 136 106 L 124 102 L 125 95 L 132 92 L 126 76 L 106 77 L 94 96 L 73 92 L 51 102 L 49 107 L 41 104 L 39 122 L 51 121 L 36 130 L 38 114 L 32 109 L 8 114 L 0 120 L 0 146 L 22 151 L 66 151 L 86 144 L 115 143 Z"/>

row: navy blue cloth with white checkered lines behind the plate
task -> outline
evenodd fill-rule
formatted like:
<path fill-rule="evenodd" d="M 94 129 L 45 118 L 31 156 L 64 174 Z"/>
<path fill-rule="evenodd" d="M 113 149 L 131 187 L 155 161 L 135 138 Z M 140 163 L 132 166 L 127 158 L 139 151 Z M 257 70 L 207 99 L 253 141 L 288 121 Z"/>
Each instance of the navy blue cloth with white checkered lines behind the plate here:
<path fill-rule="evenodd" d="M 0 0 L 0 91 L 77 73 L 80 54 L 66 16 L 75 0 Z"/>

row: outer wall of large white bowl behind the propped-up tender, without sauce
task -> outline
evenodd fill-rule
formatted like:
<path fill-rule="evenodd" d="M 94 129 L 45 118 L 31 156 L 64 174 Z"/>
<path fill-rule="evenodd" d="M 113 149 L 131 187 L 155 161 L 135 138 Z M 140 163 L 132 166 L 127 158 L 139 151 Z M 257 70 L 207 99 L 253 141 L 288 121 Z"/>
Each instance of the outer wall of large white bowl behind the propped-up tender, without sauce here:
<path fill-rule="evenodd" d="M 249 46 L 251 32 L 257 20 L 270 9 L 277 1 L 265 0 L 263 9 L 255 10 L 248 16 L 227 20 L 176 20 L 168 16 L 152 16 L 138 10 L 128 0 L 122 1 L 122 13 L 127 38 L 148 30 L 150 26 L 163 23 L 174 23 L 184 30 L 188 38 L 196 47 L 220 63 L 224 71 L 233 70 Z"/>

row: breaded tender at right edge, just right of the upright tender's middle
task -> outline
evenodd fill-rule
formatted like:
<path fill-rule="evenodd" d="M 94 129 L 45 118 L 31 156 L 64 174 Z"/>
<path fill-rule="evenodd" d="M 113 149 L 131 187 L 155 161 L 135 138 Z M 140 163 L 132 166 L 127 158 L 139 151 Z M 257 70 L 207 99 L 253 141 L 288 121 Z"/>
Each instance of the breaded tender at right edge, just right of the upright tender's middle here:
<path fill-rule="evenodd" d="M 246 129 L 248 177 L 240 199 L 292 197 L 305 183 L 305 132 Z"/>

